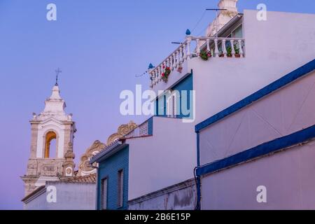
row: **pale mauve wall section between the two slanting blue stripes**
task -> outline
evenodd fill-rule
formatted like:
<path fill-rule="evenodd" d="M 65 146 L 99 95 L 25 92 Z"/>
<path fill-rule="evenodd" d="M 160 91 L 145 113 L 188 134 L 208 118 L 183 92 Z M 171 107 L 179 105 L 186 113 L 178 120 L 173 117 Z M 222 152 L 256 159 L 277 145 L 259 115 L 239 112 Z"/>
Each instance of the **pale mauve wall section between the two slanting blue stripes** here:
<path fill-rule="evenodd" d="M 315 124 L 315 71 L 200 132 L 200 164 Z"/>

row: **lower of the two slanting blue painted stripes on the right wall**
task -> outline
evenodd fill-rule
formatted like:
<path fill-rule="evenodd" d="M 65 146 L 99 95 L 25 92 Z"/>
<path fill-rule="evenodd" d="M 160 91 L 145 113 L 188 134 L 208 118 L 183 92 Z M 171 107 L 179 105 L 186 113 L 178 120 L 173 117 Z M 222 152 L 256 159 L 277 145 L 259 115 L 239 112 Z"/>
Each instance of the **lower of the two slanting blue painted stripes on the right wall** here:
<path fill-rule="evenodd" d="M 293 134 L 289 134 L 285 137 L 274 139 L 259 146 L 255 146 L 254 148 L 248 149 L 241 153 L 237 153 L 223 160 L 218 160 L 211 164 L 198 167 L 196 174 L 197 176 L 202 176 L 205 174 L 218 172 L 221 169 L 233 167 L 241 162 L 247 162 L 248 160 L 253 160 L 263 155 L 268 155 L 269 153 L 275 153 L 276 151 L 285 150 L 290 146 L 301 144 L 314 137 L 315 125 L 308 127 L 307 129 L 295 132 Z"/>

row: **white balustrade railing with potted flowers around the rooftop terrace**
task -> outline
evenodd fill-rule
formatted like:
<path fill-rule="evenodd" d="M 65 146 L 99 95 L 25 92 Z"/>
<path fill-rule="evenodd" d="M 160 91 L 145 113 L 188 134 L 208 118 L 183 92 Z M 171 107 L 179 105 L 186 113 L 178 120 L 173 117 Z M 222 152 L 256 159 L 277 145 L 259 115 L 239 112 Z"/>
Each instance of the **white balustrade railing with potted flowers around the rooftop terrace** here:
<path fill-rule="evenodd" d="M 192 43 L 195 42 L 195 47 Z M 151 87 L 162 81 L 162 73 L 169 67 L 171 71 L 178 69 L 183 62 L 192 57 L 200 57 L 202 50 L 211 52 L 211 57 L 244 57 L 244 38 L 195 37 L 187 36 L 171 55 L 155 68 L 149 68 Z M 191 48 L 194 48 L 192 51 Z"/>

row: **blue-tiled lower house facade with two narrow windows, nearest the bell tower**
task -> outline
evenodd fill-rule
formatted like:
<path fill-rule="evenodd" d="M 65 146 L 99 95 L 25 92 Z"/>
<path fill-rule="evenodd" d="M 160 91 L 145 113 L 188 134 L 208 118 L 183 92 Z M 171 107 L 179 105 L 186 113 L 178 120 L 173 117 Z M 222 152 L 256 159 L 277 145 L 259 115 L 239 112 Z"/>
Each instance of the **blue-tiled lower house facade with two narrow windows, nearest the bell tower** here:
<path fill-rule="evenodd" d="M 118 171 L 123 169 L 123 207 L 118 207 Z M 99 163 L 97 190 L 97 209 L 101 207 L 101 180 L 108 178 L 107 209 L 128 209 L 128 176 L 129 176 L 129 146 L 126 146 L 111 157 Z"/>

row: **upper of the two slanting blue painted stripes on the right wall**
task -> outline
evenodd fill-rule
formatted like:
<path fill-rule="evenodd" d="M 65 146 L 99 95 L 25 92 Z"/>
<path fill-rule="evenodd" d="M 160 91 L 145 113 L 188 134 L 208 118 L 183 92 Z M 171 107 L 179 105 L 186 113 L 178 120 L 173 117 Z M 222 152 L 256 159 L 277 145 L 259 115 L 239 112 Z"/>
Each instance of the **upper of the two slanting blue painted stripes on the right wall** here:
<path fill-rule="evenodd" d="M 263 87 L 261 90 L 258 90 L 258 92 L 255 92 L 251 94 L 250 96 L 237 102 L 236 104 L 228 107 L 228 109 L 225 109 L 217 113 L 216 115 L 211 116 L 207 120 L 204 120 L 202 123 L 199 123 L 198 125 L 195 126 L 195 132 L 199 132 L 200 130 L 208 127 L 209 125 L 213 125 L 219 120 L 222 120 L 223 118 L 227 116 L 230 116 L 232 113 L 235 113 L 239 111 L 240 109 L 243 109 L 245 106 L 252 104 L 258 99 L 261 99 L 262 97 L 265 97 L 268 94 L 276 90 L 279 90 L 281 87 L 288 85 L 289 83 L 292 83 L 294 80 L 297 80 L 297 78 L 301 78 L 302 76 L 306 75 L 307 73 L 310 73 L 314 69 L 315 69 L 315 59 L 313 59 L 311 62 L 307 64 L 304 64 L 304 66 L 301 66 L 295 71 L 288 73 L 288 75 L 283 76 L 282 78 L 279 78 L 274 83 L 271 83 L 267 85 L 266 87 Z"/>

